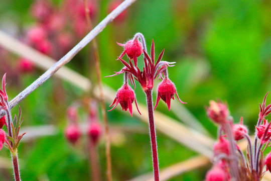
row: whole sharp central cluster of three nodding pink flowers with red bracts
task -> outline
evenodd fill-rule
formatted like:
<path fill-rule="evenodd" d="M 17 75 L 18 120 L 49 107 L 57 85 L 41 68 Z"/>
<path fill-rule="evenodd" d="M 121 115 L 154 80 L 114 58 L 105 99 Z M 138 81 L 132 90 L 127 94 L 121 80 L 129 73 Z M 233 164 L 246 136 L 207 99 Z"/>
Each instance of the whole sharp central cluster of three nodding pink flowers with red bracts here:
<path fill-rule="evenodd" d="M 141 39 L 141 42 L 139 39 Z M 128 79 L 130 80 L 130 83 L 131 85 L 134 86 L 134 88 L 135 88 L 134 80 L 139 81 L 145 93 L 152 91 L 154 86 L 154 80 L 156 78 L 163 79 L 157 88 L 158 95 L 154 109 L 156 109 L 156 107 L 158 106 L 159 100 L 162 99 L 167 104 L 168 109 L 170 110 L 171 99 L 174 100 L 175 94 L 182 104 L 186 104 L 180 100 L 174 83 L 168 77 L 167 68 L 170 66 L 174 66 L 171 64 L 175 62 L 162 61 L 164 50 L 159 55 L 158 60 L 155 61 L 154 41 L 152 42 L 151 46 L 151 57 L 147 53 L 145 39 L 141 33 L 135 34 L 133 39 L 127 41 L 125 44 L 120 43 L 117 44 L 124 47 L 124 51 L 118 57 L 118 60 L 120 60 L 123 63 L 124 67 L 120 71 L 115 72 L 115 74 L 110 76 L 124 73 L 124 83 L 121 86 L 121 88 L 118 89 L 116 97 L 113 103 L 110 105 L 113 106 L 115 104 L 115 106 L 109 111 L 112 111 L 119 103 L 122 110 L 124 111 L 129 110 L 130 115 L 132 116 L 131 104 L 133 103 L 133 101 L 135 102 L 135 105 L 137 106 L 137 109 L 139 111 L 134 91 L 128 85 Z M 122 59 L 122 57 L 125 54 L 129 58 L 129 63 Z M 143 71 L 141 71 L 140 68 L 138 67 L 138 57 L 141 56 L 142 54 L 144 54 L 144 65 L 145 65 Z"/>

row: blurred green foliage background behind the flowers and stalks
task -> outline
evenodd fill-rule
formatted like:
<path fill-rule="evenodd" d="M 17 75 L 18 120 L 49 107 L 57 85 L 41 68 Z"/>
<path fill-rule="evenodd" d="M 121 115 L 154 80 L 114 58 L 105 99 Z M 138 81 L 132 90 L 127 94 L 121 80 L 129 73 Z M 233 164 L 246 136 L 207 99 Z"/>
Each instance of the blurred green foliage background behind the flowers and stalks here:
<path fill-rule="evenodd" d="M 64 1 L 55 0 L 52 3 L 57 9 Z M 0 29 L 17 38 L 26 36 L 27 28 L 36 23 L 30 13 L 33 4 L 34 1 L 29 0 L 2 1 Z M 110 1 L 96 2 L 97 15 L 93 25 L 108 14 L 109 4 Z M 216 137 L 216 126 L 208 120 L 204 110 L 209 100 L 227 102 L 235 122 L 243 116 L 244 124 L 252 133 L 259 111 L 258 103 L 271 88 L 270 6 L 271 2 L 264 0 L 138 0 L 128 8 L 127 17 L 122 22 L 109 24 L 97 36 L 102 77 L 119 71 L 123 66 L 115 61 L 122 52 L 122 47 L 116 42 L 123 43 L 141 32 L 146 38 L 148 50 L 154 39 L 156 55 L 165 48 L 163 60 L 176 62 L 176 66 L 169 68 L 170 78 L 182 101 L 188 103 L 185 107 L 213 138 Z M 77 38 L 73 46 L 79 40 Z M 88 52 L 87 46 L 67 66 L 84 76 L 91 76 L 95 83 L 93 54 Z M 140 61 L 142 58 L 139 58 Z M 0 59 L 2 65 L 9 65 L 8 69 L 2 66 L 0 75 L 8 71 L 10 100 L 44 72 L 36 69 L 28 74 L 18 73 L 15 66 L 18 56 L 14 54 Z M 122 76 L 102 78 L 102 81 L 118 89 L 122 85 Z M 135 93 L 138 102 L 145 104 L 142 89 L 137 85 Z M 86 96 L 77 87 L 52 77 L 20 103 L 25 118 L 23 127 L 52 124 L 58 130 L 56 135 L 34 138 L 20 145 L 23 180 L 90 180 L 86 137 L 73 147 L 63 133 L 68 105 Z M 267 97 L 267 103 L 270 100 Z M 160 103 L 157 110 L 178 119 L 168 112 L 165 104 Z M 13 109 L 13 114 L 17 111 L 18 106 Z M 80 122 L 87 122 L 84 115 L 80 118 Z M 139 132 L 120 132 L 112 138 L 114 180 L 128 180 L 152 171 L 148 125 L 118 111 L 108 112 L 108 120 L 112 126 L 142 129 Z M 159 132 L 158 148 L 161 168 L 197 155 Z M 98 152 L 105 180 L 103 140 Z M 0 155 L 10 158 L 8 149 L 1 150 Z M 170 180 L 203 180 L 209 168 L 210 165 Z M 11 179 L 11 169 L 0 169 L 1 181 Z"/>

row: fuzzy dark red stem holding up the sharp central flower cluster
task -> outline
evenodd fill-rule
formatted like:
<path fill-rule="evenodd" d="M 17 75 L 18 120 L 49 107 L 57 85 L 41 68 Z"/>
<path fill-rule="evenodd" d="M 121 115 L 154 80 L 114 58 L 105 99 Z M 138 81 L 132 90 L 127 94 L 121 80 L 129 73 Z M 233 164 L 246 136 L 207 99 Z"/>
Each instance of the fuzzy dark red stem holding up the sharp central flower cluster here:
<path fill-rule="evenodd" d="M 153 109 L 153 90 L 147 89 L 145 92 L 147 98 L 148 114 L 149 114 L 149 126 L 150 136 L 152 144 L 152 156 L 153 156 L 153 169 L 155 181 L 159 181 L 159 164 L 158 164 L 158 152 L 156 142 L 156 132 L 154 123 L 154 109 Z"/>

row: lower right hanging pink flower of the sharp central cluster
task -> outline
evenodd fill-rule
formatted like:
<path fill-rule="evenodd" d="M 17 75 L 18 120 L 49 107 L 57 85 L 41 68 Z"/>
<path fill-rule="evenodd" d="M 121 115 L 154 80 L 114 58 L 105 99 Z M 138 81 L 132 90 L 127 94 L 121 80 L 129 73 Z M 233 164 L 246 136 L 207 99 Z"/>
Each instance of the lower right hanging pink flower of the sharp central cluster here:
<path fill-rule="evenodd" d="M 186 104 L 184 102 L 182 102 L 176 92 L 176 88 L 174 83 L 169 79 L 169 78 L 164 78 L 164 80 L 159 83 L 158 87 L 157 87 L 157 99 L 156 99 L 156 104 L 155 104 L 155 108 L 158 106 L 158 103 L 160 101 L 160 98 L 165 101 L 165 103 L 168 106 L 168 109 L 170 111 L 170 102 L 171 99 L 174 100 L 174 95 L 176 94 L 178 100 L 182 103 L 182 104 Z"/>

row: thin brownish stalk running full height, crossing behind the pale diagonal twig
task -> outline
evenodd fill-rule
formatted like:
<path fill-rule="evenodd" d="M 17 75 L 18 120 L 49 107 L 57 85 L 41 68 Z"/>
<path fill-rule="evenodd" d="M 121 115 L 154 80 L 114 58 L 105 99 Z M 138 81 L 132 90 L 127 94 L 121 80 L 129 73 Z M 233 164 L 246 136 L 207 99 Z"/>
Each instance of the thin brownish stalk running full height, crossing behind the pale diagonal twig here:
<path fill-rule="evenodd" d="M 85 13 L 86 13 L 86 19 L 88 24 L 89 31 L 92 30 L 92 23 L 89 16 L 89 9 L 87 5 L 87 0 L 84 0 L 84 6 L 85 6 Z M 106 174 L 107 174 L 107 180 L 112 181 L 112 164 L 111 164 L 111 153 L 110 153 L 110 136 L 109 136 L 109 126 L 107 121 L 107 115 L 105 111 L 105 102 L 104 102 L 104 96 L 103 96 L 103 89 L 102 89 L 102 81 L 101 81 L 101 68 L 100 68 L 100 58 L 99 58 L 99 52 L 98 52 L 98 46 L 96 39 L 93 38 L 92 40 L 92 49 L 94 53 L 94 62 L 95 62 L 95 68 L 96 68 L 96 74 L 97 74 L 97 81 L 98 81 L 98 87 L 100 92 L 100 104 L 101 104 L 101 110 L 102 110 L 102 117 L 103 117 L 103 123 L 104 123 L 104 133 L 105 133 L 105 154 L 106 154 Z"/>

